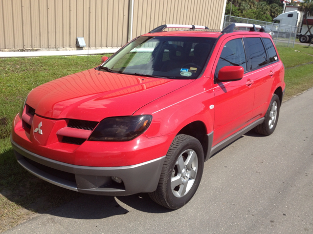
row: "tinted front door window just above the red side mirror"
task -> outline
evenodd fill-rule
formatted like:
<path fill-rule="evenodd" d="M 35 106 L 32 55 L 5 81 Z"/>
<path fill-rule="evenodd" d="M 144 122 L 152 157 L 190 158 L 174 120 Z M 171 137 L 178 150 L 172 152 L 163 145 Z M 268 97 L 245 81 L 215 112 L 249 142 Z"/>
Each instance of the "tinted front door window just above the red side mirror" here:
<path fill-rule="evenodd" d="M 222 50 L 221 57 L 215 69 L 215 77 L 224 66 L 242 66 L 246 71 L 246 54 L 242 39 L 228 41 Z"/>

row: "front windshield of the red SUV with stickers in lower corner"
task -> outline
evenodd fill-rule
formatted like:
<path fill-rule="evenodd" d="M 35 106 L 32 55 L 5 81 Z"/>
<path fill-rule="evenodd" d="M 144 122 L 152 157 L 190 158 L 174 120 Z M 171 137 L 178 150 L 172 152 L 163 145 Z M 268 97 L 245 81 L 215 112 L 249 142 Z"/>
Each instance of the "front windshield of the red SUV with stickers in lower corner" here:
<path fill-rule="evenodd" d="M 200 37 L 139 37 L 98 69 L 137 76 L 195 79 L 201 74 L 215 41 Z"/>

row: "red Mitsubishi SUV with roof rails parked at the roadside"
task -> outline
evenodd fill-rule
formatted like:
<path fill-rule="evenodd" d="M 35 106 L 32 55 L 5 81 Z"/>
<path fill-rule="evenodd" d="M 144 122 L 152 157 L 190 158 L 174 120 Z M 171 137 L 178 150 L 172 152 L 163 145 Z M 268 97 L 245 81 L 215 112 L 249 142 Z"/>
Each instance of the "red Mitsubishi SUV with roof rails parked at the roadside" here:
<path fill-rule="evenodd" d="M 206 29 L 161 25 L 100 66 L 33 89 L 12 125 L 18 162 L 70 190 L 182 207 L 210 156 L 253 128 L 273 133 L 285 91 L 263 27 Z"/>

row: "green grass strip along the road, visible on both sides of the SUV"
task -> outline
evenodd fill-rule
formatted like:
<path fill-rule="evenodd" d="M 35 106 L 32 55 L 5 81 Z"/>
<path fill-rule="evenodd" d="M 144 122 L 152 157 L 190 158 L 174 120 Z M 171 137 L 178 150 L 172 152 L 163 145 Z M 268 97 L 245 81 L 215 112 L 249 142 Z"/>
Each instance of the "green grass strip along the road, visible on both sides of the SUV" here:
<path fill-rule="evenodd" d="M 313 46 L 282 47 L 278 52 L 286 68 L 284 99 L 313 87 L 313 64 L 301 65 L 313 62 L 313 56 L 307 55 L 313 55 Z M 100 64 L 101 57 L 89 56 L 89 68 Z M 86 69 L 86 56 L 0 59 L 0 232 L 33 211 L 56 207 L 79 196 L 22 169 L 13 154 L 9 136 L 13 118 L 33 88 Z"/>

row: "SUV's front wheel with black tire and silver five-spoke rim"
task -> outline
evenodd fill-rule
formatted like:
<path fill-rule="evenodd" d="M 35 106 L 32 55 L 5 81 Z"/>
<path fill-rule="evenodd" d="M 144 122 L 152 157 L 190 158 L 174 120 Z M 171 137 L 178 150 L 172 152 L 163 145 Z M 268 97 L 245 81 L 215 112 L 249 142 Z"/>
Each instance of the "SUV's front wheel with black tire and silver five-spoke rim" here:
<path fill-rule="evenodd" d="M 195 195 L 203 173 L 204 154 L 199 140 L 180 134 L 166 154 L 153 201 L 169 209 L 179 209 Z"/>

